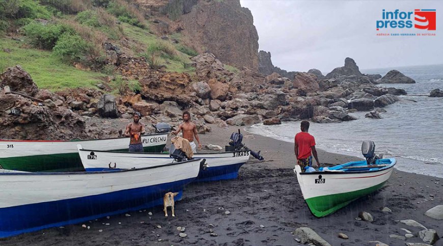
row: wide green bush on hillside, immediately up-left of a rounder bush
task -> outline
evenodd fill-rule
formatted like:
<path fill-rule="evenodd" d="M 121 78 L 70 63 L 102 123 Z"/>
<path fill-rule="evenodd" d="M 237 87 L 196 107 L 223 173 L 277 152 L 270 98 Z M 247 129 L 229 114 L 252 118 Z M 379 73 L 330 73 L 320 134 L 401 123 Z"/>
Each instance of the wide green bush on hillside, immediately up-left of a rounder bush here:
<path fill-rule="evenodd" d="M 43 25 L 33 21 L 25 25 L 23 31 L 31 44 L 43 49 L 52 49 L 64 32 L 72 30 L 62 24 Z"/>

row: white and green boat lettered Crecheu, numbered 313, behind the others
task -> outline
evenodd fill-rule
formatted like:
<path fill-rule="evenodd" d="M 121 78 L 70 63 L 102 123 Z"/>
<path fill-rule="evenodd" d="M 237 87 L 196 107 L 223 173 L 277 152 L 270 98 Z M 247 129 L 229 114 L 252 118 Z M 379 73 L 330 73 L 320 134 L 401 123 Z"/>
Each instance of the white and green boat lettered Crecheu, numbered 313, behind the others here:
<path fill-rule="evenodd" d="M 168 133 L 142 136 L 146 152 L 160 152 Z M 0 139 L 0 166 L 7 170 L 27 172 L 84 171 L 77 144 L 97 150 L 128 151 L 129 138 L 45 141 Z"/>

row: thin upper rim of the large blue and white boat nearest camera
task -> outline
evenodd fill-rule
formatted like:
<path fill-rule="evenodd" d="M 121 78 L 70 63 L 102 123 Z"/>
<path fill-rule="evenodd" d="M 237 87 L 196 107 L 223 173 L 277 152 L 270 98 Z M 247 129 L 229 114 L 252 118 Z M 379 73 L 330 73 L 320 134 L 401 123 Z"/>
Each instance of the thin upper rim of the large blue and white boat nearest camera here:
<path fill-rule="evenodd" d="M 0 176 L 8 176 L 8 175 L 85 175 L 85 174 L 104 174 L 104 173 L 123 173 L 123 172 L 131 172 L 131 171 L 141 171 L 141 170 L 148 170 L 148 169 L 154 169 L 154 168 L 162 168 L 162 167 L 168 167 L 168 166 L 174 166 L 179 164 L 184 164 L 187 162 L 192 161 L 202 161 L 202 158 L 195 158 L 191 160 L 186 161 L 180 161 L 180 162 L 171 162 L 159 166 L 153 166 L 153 167 L 146 167 L 146 168 L 134 168 L 134 169 L 118 169 L 118 170 L 103 170 L 103 171 L 78 171 L 78 172 L 7 172 L 7 173 L 0 173 Z M 200 169 L 200 168 L 199 168 Z"/>

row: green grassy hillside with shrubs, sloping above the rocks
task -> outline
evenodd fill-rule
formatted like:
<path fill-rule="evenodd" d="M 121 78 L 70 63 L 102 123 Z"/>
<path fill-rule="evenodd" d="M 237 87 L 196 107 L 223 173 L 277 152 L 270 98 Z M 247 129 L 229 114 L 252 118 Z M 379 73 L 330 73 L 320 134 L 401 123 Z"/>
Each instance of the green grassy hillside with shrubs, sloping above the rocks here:
<path fill-rule="evenodd" d="M 153 69 L 195 73 L 190 57 L 197 52 L 180 44 L 181 34 L 163 40 L 151 25 L 143 10 L 123 0 L 0 0 L 0 72 L 20 65 L 39 88 L 52 91 L 95 87 L 115 70 L 105 64 L 103 43 L 111 42 L 146 57 Z"/>

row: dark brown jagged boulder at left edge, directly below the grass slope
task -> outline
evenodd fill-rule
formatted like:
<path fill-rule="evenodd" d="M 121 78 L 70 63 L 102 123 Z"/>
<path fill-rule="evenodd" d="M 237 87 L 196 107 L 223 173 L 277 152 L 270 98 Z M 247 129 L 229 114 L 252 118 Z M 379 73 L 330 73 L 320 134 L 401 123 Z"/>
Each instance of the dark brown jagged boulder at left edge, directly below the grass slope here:
<path fill-rule="evenodd" d="M 37 85 L 29 73 L 24 71 L 19 65 L 7 68 L 3 74 L 0 74 L 0 87 L 5 86 L 9 86 L 11 91 L 24 93 L 29 96 L 35 96 L 38 92 Z"/>

